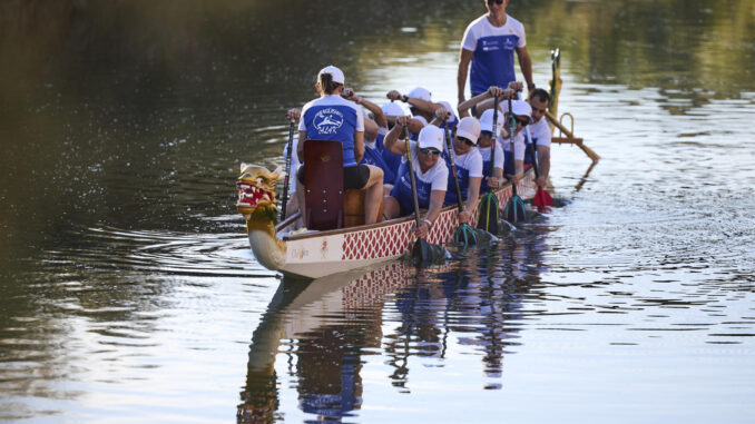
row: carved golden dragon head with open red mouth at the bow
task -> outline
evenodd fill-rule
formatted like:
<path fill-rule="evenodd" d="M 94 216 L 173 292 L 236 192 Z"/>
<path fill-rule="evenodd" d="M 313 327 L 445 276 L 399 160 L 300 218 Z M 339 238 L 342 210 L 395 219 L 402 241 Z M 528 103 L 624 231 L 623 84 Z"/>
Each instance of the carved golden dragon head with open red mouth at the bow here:
<path fill-rule="evenodd" d="M 275 183 L 283 178 L 281 167 L 271 172 L 257 165 L 242 164 L 242 175 L 236 181 L 238 201 L 236 209 L 248 220 L 257 208 L 275 210 Z"/>

